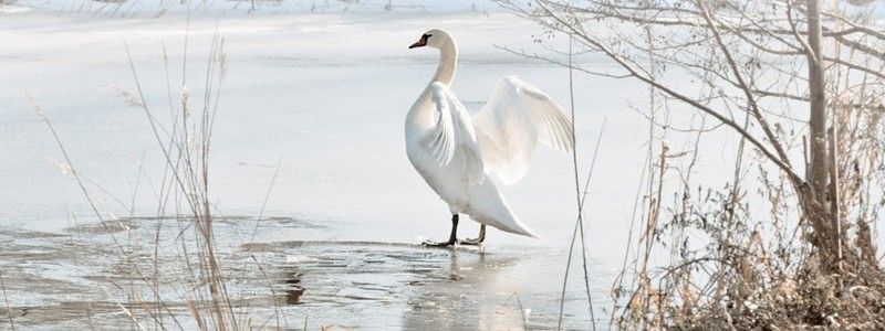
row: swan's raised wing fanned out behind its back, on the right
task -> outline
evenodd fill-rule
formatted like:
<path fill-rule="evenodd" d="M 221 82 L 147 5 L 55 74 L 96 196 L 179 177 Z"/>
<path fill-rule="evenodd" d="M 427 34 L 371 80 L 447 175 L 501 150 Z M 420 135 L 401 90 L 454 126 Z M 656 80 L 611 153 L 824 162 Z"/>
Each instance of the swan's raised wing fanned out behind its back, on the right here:
<path fill-rule="evenodd" d="M 498 83 L 472 120 L 486 169 L 508 184 L 525 174 L 539 141 L 566 152 L 574 148 L 562 107 L 517 76 Z"/>

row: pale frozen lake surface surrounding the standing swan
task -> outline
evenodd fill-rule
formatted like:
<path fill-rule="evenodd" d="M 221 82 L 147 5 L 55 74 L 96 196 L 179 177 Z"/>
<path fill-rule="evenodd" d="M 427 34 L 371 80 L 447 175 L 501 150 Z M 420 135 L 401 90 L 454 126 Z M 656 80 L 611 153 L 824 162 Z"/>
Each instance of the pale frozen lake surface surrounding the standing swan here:
<path fill-rule="evenodd" d="M 82 7 L 75 3 L 64 6 Z M 225 38 L 227 72 L 212 138 L 210 200 L 225 260 L 238 275 L 231 288 L 240 307 L 261 317 L 279 309 L 291 328 L 306 318 L 312 330 L 333 323 L 520 329 L 519 300 L 529 311 L 527 325 L 554 327 L 576 217 L 570 156 L 543 149 L 521 182 L 502 189 L 538 239 L 491 229 L 482 252 L 417 245 L 444 239 L 450 226 L 447 206 L 405 154 L 406 111 L 438 58 L 429 50 L 407 50 L 421 32 L 440 26 L 458 39 L 452 88 L 469 108 L 481 107 L 510 74 L 569 104 L 566 70 L 493 46 L 544 52 L 532 44 L 540 29 L 483 12 L 489 3 L 478 11 L 467 9 L 470 1 L 458 3 L 464 4 L 440 12 L 198 11 L 189 23 L 181 11 L 153 18 L 143 9 L 138 18 L 123 19 L 70 12 L 59 3 L 0 14 L 0 268 L 14 322 L 125 325 L 118 301 L 128 293 L 115 285 L 133 281 L 107 258 L 115 256 L 110 235 L 94 224 L 80 189 L 61 171 L 62 156 L 25 93 L 53 121 L 81 174 L 101 185 L 87 185 L 100 210 L 129 228 L 116 235 L 133 249 L 150 247 L 155 231 L 174 237 L 180 222 L 152 217 L 165 161 L 142 110 L 121 96 L 135 93 L 124 42 L 148 106 L 166 120 L 164 47 L 177 97 L 187 34 L 185 84 L 200 96 L 217 31 Z M 552 44 L 564 51 L 563 42 Z M 628 107 L 643 105 L 645 93 L 632 81 L 575 81 L 582 177 L 607 119 L 586 212 L 600 325 L 608 321 L 610 290 L 647 148 L 647 121 Z M 200 105 L 199 97 L 195 103 Z M 721 149 L 733 142 L 709 143 Z M 705 161 L 730 161 L 726 154 Z M 459 236 L 476 235 L 476 223 L 461 224 Z M 252 257 L 268 266 L 263 274 L 237 269 Z M 168 264 L 174 268 L 174 260 Z M 582 278 L 574 264 L 565 296 L 565 325 L 573 329 L 590 323 Z M 177 313 L 186 316 L 184 308 Z"/>

